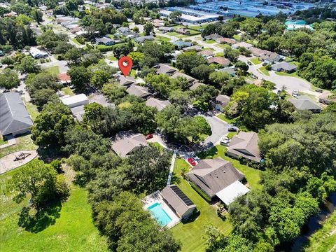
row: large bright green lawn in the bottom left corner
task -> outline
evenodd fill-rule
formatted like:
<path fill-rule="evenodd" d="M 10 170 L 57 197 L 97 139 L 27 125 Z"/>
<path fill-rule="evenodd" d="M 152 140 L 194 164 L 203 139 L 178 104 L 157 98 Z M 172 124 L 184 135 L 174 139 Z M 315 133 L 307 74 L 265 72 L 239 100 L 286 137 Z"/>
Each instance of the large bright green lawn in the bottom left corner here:
<path fill-rule="evenodd" d="M 16 213 L 3 218 L 0 221 L 1 252 L 109 251 L 106 240 L 99 236 L 92 223 L 91 208 L 84 189 L 73 187 L 69 200 L 62 204 L 60 211 L 55 212 L 52 214 L 55 223 L 40 232 L 20 228 Z"/>

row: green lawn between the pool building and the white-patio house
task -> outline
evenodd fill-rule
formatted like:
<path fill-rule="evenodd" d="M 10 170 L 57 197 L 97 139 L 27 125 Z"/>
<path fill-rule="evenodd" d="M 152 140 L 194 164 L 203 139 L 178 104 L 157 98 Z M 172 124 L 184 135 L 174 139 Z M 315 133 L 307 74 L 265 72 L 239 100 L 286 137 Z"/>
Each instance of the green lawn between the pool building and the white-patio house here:
<path fill-rule="evenodd" d="M 223 221 L 219 218 L 214 207 L 211 207 L 211 205 L 206 202 L 185 179 L 182 179 L 181 169 L 183 168 L 188 170 L 189 165 L 183 159 L 176 158 L 173 183 L 176 183 L 183 193 L 195 203 L 197 209 L 200 211 L 200 216 L 197 216 L 195 221 L 179 223 L 172 228 L 172 233 L 175 239 L 182 242 L 182 251 L 204 251 L 206 248 L 203 239 L 205 227 L 214 225 L 227 234 L 231 231 L 232 226 L 228 219 Z"/>

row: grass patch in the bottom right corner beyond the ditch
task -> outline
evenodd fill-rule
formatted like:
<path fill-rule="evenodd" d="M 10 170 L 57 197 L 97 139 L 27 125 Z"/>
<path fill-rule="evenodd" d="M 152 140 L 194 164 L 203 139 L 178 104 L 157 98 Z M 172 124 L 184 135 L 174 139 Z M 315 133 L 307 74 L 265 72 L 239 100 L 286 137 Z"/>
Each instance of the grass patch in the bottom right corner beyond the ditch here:
<path fill-rule="evenodd" d="M 332 252 L 336 246 L 336 211 L 322 223 L 322 228 L 316 231 L 311 237 L 305 252 Z M 333 249 L 332 249 L 333 248 Z"/>

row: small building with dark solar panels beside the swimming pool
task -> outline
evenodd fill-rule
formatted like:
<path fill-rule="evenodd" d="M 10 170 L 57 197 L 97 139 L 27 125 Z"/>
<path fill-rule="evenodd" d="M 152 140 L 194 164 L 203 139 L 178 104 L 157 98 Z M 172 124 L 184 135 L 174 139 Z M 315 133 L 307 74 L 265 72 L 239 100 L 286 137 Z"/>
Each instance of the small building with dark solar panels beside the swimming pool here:
<path fill-rule="evenodd" d="M 188 196 L 174 184 L 166 186 L 161 191 L 161 195 L 165 203 L 174 210 L 179 218 L 188 218 L 196 209 L 195 204 L 188 198 Z"/>

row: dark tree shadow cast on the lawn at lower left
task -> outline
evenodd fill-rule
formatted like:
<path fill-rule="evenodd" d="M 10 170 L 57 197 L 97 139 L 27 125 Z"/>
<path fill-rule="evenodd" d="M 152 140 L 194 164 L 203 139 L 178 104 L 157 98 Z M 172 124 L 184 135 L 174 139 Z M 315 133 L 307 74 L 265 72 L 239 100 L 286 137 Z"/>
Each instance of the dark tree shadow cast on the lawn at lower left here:
<path fill-rule="evenodd" d="M 18 225 L 29 232 L 41 232 L 55 224 L 56 219 L 60 216 L 61 209 L 62 203 L 60 201 L 53 202 L 48 207 L 36 211 L 35 214 L 31 214 L 31 211 L 33 211 L 31 207 L 23 207 L 19 214 Z"/>

